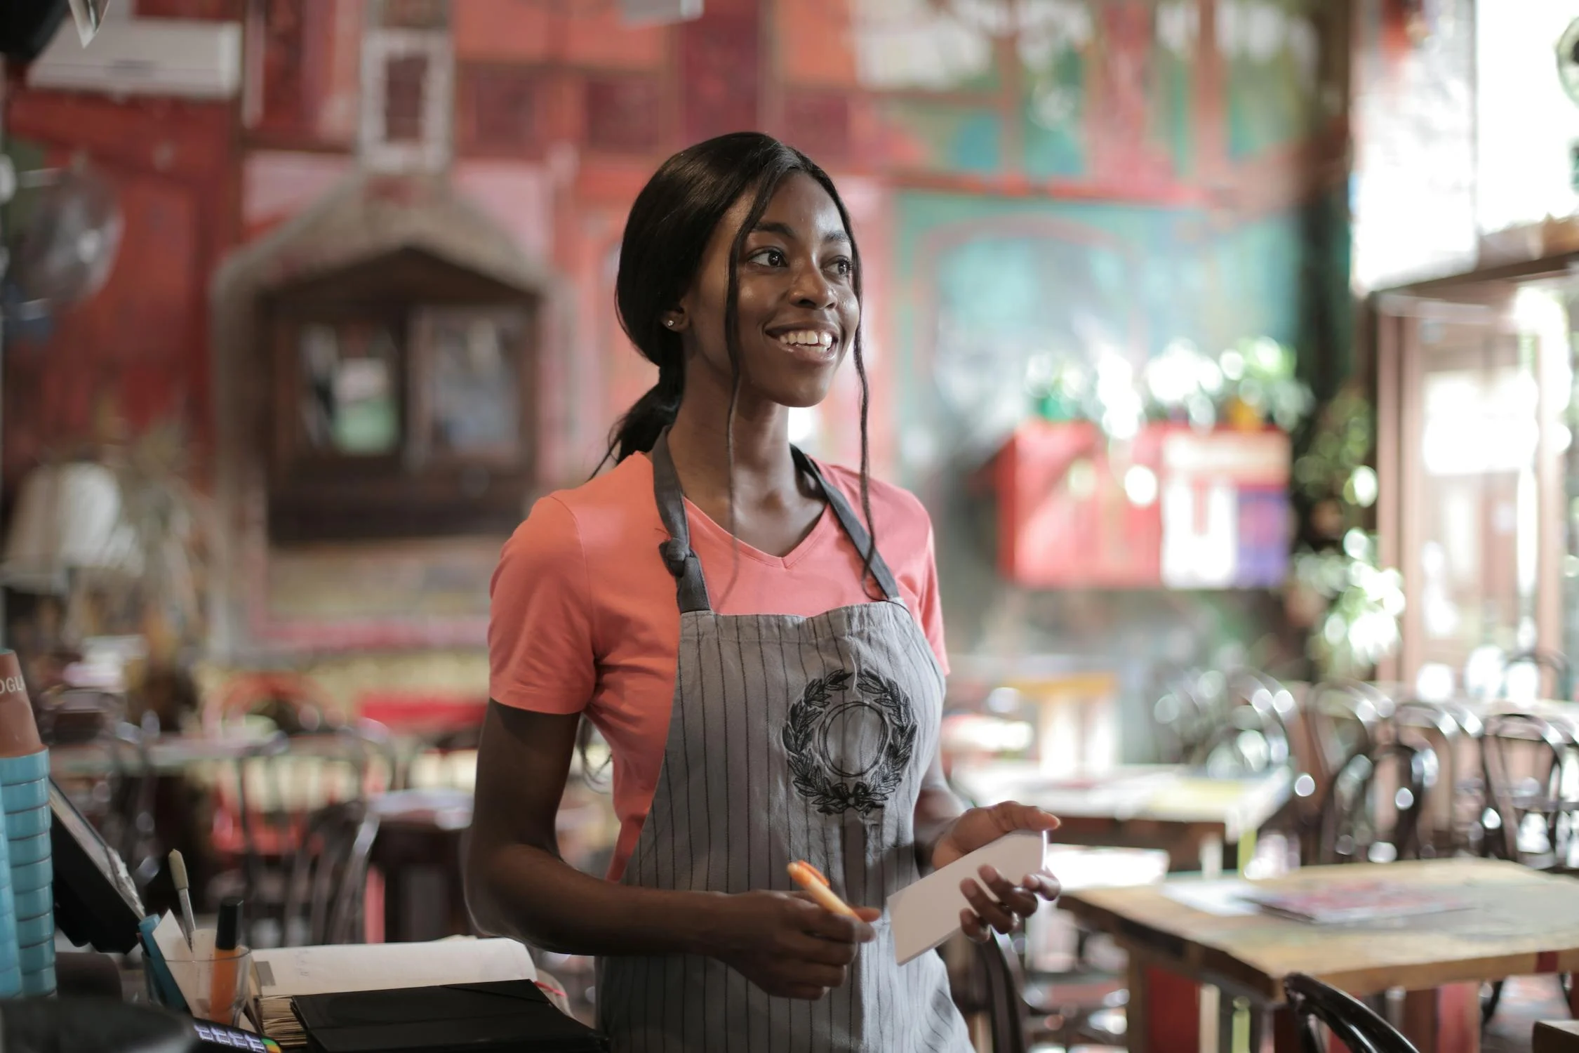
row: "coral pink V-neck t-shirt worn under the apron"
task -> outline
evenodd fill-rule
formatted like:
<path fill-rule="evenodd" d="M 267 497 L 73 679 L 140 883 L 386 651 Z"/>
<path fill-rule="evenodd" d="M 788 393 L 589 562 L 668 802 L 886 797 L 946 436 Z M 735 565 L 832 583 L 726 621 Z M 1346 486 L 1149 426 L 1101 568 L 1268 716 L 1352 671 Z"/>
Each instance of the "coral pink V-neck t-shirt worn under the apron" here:
<path fill-rule="evenodd" d="M 861 477 L 820 467 L 859 510 Z M 878 551 L 944 663 L 932 521 L 906 491 L 876 480 L 870 489 Z M 728 530 L 688 500 L 685 513 L 718 614 L 810 617 L 870 601 L 861 553 L 831 508 L 785 557 L 737 545 L 737 570 Z M 658 556 L 665 540 L 652 461 L 632 456 L 583 486 L 538 500 L 505 541 L 493 576 L 489 695 L 543 714 L 584 710 L 608 740 L 621 823 L 611 879 L 624 873 L 636 846 L 669 734 L 681 616 L 674 578 Z M 737 576 L 726 589 L 731 571 Z"/>

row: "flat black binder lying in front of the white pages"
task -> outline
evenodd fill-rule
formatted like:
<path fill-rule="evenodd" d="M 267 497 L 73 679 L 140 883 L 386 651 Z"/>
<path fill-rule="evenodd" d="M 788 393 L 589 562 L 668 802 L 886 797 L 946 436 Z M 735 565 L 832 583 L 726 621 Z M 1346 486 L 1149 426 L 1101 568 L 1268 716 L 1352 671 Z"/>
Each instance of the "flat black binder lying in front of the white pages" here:
<path fill-rule="evenodd" d="M 594 1053 L 608 1039 L 531 980 L 306 995 L 292 999 L 314 1053 Z"/>

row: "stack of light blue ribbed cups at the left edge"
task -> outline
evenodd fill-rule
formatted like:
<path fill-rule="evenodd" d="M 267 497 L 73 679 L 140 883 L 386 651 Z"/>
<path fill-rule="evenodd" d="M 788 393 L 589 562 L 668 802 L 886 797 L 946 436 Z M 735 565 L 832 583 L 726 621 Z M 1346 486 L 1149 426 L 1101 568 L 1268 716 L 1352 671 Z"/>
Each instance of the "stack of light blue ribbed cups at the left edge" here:
<path fill-rule="evenodd" d="M 0 957 L 14 947 L 22 995 L 55 993 L 55 895 L 49 851 L 49 750 L 0 758 L 0 805 L 5 807 L 8 865 L 0 911 L 11 917 L 13 938 L 0 942 Z M 6 900 L 13 909 L 6 911 Z M 5 922 L 0 922 L 3 930 Z M 5 931 L 0 931 L 0 941 Z M 0 961 L 3 965 L 3 961 Z M 0 972 L 0 996 L 6 995 Z"/>

